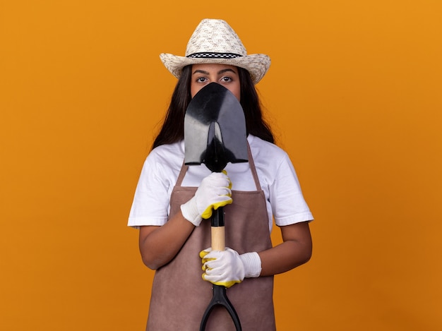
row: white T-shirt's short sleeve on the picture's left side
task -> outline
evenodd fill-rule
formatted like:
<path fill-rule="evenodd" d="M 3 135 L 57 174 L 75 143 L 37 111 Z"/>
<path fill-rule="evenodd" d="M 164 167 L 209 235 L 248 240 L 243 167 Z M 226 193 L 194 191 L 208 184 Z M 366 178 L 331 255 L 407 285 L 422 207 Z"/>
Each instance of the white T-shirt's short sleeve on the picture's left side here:
<path fill-rule="evenodd" d="M 167 222 L 170 183 L 161 174 L 161 163 L 152 155 L 148 156 L 133 197 L 129 227 L 138 229 L 144 225 L 161 226 Z"/>

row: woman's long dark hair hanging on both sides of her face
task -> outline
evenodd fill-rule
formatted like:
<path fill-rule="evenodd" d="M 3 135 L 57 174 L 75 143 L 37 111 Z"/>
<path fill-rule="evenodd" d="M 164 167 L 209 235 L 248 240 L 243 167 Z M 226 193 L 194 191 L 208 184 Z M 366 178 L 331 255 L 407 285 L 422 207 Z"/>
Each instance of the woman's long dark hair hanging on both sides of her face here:
<path fill-rule="evenodd" d="M 246 118 L 246 131 L 253 136 L 274 143 L 270 126 L 265 123 L 261 111 L 258 93 L 256 92 L 249 71 L 239 68 L 239 82 L 241 88 L 241 107 Z M 191 66 L 185 66 L 175 86 L 170 100 L 169 109 L 162 124 L 160 133 L 153 142 L 153 147 L 177 143 L 184 139 L 184 114 L 191 102 Z"/>

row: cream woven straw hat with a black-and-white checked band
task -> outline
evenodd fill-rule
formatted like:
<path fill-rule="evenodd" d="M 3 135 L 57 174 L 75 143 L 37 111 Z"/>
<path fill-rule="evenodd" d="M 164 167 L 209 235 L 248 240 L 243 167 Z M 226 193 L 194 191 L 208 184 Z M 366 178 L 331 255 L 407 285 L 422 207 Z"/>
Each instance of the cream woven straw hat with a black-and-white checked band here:
<path fill-rule="evenodd" d="M 270 57 L 265 54 L 247 55 L 238 35 L 225 20 L 204 19 L 193 31 L 187 43 L 186 55 L 160 54 L 162 63 L 179 78 L 189 64 L 229 64 L 249 71 L 253 83 L 258 83 L 268 71 Z"/>

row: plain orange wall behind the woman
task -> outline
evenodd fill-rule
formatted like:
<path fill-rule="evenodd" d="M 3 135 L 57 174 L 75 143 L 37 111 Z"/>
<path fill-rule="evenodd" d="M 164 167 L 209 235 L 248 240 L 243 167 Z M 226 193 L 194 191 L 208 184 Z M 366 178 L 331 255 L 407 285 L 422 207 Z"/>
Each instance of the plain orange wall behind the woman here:
<path fill-rule="evenodd" d="M 442 330 L 442 5 L 0 2 L 0 330 L 144 330 L 126 227 L 202 18 L 273 59 L 257 85 L 316 221 L 278 330 Z M 279 240 L 277 232 L 275 241 Z"/>

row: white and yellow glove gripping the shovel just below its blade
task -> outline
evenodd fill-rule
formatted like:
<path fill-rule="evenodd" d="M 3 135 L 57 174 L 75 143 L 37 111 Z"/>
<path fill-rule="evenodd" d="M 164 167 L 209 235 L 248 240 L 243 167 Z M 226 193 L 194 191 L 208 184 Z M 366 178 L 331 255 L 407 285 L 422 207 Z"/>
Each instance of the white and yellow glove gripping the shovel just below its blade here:
<path fill-rule="evenodd" d="M 212 216 L 212 210 L 232 203 L 232 182 L 227 172 L 213 172 L 201 181 L 193 198 L 181 205 L 184 218 L 198 227 L 202 219 Z"/>

